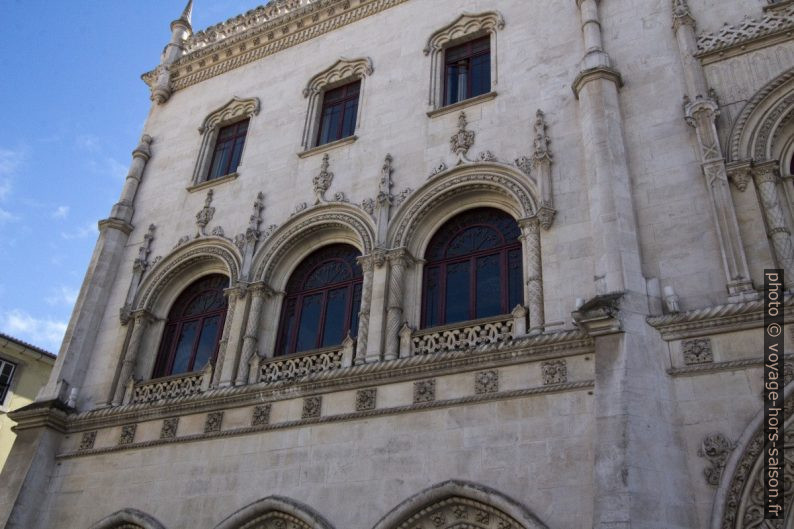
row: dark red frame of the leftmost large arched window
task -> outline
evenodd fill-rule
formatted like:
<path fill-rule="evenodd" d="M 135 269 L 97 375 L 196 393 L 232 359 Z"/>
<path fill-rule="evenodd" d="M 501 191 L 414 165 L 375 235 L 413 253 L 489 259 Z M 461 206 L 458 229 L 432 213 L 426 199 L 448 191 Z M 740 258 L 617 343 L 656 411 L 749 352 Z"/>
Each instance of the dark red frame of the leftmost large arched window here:
<path fill-rule="evenodd" d="M 157 361 L 155 362 L 152 378 L 167 377 L 179 373 L 190 373 L 203 368 L 204 366 L 195 365 L 195 362 L 201 334 L 204 330 L 204 324 L 208 319 L 220 316 L 215 331 L 215 343 L 212 354 L 210 355 L 210 362 L 212 364 L 215 363 L 218 356 L 218 346 L 220 344 L 221 335 L 223 334 L 223 325 L 226 321 L 227 302 L 223 289 L 228 286 L 228 283 L 229 281 L 226 276 L 213 274 L 193 282 L 179 295 L 168 314 L 168 321 L 163 332 L 163 338 L 160 342 L 160 351 L 157 354 Z M 223 299 L 223 305 L 197 314 L 186 314 L 188 308 L 190 308 L 194 301 L 206 295 L 220 295 Z M 195 322 L 198 323 L 198 327 L 193 337 L 187 368 L 179 373 L 174 373 L 174 360 L 176 359 L 176 350 L 180 342 L 179 339 L 182 335 L 182 330 L 186 324 Z"/>

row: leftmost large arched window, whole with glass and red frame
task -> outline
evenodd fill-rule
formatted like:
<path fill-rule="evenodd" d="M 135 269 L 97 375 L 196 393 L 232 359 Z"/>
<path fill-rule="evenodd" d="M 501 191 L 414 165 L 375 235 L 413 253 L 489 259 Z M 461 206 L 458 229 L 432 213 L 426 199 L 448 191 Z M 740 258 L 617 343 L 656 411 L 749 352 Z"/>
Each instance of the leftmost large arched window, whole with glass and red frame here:
<path fill-rule="evenodd" d="M 189 373 L 214 362 L 226 318 L 223 275 L 202 277 L 187 287 L 168 313 L 154 377 Z"/>

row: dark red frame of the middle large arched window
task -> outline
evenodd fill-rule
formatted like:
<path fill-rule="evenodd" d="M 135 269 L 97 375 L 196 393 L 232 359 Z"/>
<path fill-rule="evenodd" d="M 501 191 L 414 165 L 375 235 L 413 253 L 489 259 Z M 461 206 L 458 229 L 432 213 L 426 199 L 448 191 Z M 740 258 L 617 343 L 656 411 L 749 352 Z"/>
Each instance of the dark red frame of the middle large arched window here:
<path fill-rule="evenodd" d="M 330 347 L 338 344 L 322 345 L 325 327 L 327 323 L 326 309 L 328 307 L 329 294 L 332 291 L 347 289 L 345 300 L 345 314 L 343 319 L 342 339 L 348 332 L 355 336 L 358 327 L 358 312 L 361 305 L 361 287 L 363 275 L 361 266 L 356 262 L 356 258 L 361 254 L 354 247 L 346 244 L 333 244 L 325 246 L 306 257 L 290 276 L 286 288 L 286 297 L 281 309 L 281 319 L 279 322 L 278 339 L 276 341 L 276 356 L 290 355 L 321 347 Z M 307 283 L 315 277 L 313 274 L 322 267 L 334 263 L 335 266 L 343 267 L 348 277 L 344 280 L 312 285 L 307 287 Z M 300 335 L 300 322 L 304 309 L 304 301 L 320 294 L 319 322 L 316 328 L 314 347 L 310 349 L 297 350 Z M 291 315 L 291 318 L 290 318 Z"/>

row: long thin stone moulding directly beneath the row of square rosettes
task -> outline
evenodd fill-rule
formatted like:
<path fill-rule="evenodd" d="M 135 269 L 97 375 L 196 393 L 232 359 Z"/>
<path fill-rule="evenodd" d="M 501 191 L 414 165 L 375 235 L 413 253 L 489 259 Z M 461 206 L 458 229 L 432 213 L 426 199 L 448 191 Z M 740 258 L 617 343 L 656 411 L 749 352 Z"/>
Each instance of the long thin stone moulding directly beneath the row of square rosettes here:
<path fill-rule="evenodd" d="M 592 389 L 594 387 L 595 387 L 595 381 L 593 380 L 584 380 L 580 382 L 567 382 L 564 384 L 553 384 L 553 385 L 532 387 L 527 389 L 518 389 L 512 391 L 483 393 L 479 395 L 470 395 L 467 397 L 460 397 L 456 399 L 416 402 L 414 404 L 394 406 L 391 408 L 378 408 L 374 410 L 354 411 L 349 413 L 340 413 L 337 415 L 326 415 L 320 417 L 284 421 L 274 424 L 244 426 L 240 428 L 230 428 L 228 430 L 185 435 L 181 437 L 152 439 L 149 441 L 142 441 L 138 443 L 130 443 L 125 445 L 108 446 L 103 448 L 92 448 L 86 450 L 74 450 L 71 452 L 63 452 L 61 454 L 58 454 L 56 457 L 58 459 L 67 459 L 72 457 L 80 457 L 80 456 L 88 456 L 88 455 L 107 454 L 111 452 L 118 452 L 120 450 L 148 448 L 152 446 L 159 446 L 170 443 L 203 441 L 218 437 L 231 437 L 231 436 L 247 435 L 251 433 L 258 433 L 264 431 L 296 428 L 307 425 L 325 424 L 325 423 L 339 422 L 339 421 L 352 421 L 358 419 L 366 419 L 370 417 L 382 417 L 388 415 L 396 415 L 399 413 L 424 411 L 434 408 L 447 408 L 451 406 L 464 406 L 469 404 L 477 404 L 481 402 L 493 402 L 497 400 L 516 399 L 516 398 L 528 397 L 532 395 L 544 395 L 549 393 L 560 393 L 564 391 L 580 391 L 580 390 Z"/>

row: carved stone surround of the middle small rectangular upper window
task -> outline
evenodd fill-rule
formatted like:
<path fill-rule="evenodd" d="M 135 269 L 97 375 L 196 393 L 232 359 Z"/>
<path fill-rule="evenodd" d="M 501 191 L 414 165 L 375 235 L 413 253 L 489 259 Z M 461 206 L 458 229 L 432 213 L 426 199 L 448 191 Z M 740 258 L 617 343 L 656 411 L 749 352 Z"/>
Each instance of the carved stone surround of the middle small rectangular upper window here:
<path fill-rule="evenodd" d="M 306 118 L 301 138 L 301 152 L 298 156 L 310 156 L 325 152 L 334 147 L 350 144 L 358 138 L 361 130 L 361 116 L 363 115 L 366 100 L 366 79 L 374 71 L 372 59 L 360 57 L 347 59 L 340 57 L 334 64 L 312 77 L 303 89 L 303 97 L 308 99 Z M 330 89 L 359 80 L 361 87 L 358 96 L 358 111 L 356 112 L 356 128 L 352 136 L 342 138 L 323 145 L 317 145 L 317 132 L 320 126 L 320 112 L 322 111 L 323 94 Z"/>

